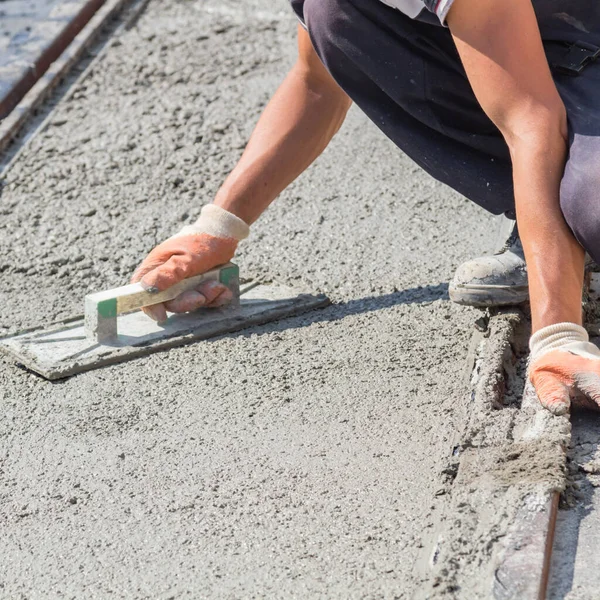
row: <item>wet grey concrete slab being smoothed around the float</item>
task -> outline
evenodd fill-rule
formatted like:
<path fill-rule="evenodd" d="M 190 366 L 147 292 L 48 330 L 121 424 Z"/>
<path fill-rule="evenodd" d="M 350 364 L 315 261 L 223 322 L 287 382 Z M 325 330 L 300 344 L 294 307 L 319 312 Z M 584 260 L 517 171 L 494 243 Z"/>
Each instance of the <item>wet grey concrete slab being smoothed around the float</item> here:
<path fill-rule="evenodd" d="M 0 335 L 195 218 L 295 27 L 284 0 L 150 3 L 6 174 Z M 479 315 L 447 281 L 491 224 L 353 109 L 236 260 L 335 305 L 59 383 L 0 359 L 0 596 L 418 592 Z"/>

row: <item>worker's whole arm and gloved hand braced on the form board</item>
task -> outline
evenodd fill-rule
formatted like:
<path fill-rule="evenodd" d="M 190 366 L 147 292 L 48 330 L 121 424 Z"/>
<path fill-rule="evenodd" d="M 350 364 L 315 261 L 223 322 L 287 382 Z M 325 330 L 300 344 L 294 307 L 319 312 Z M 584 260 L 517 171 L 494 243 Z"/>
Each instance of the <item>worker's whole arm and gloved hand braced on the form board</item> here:
<path fill-rule="evenodd" d="M 584 250 L 559 205 L 567 119 L 531 0 L 455 0 L 448 25 L 512 157 L 534 331 L 530 379 L 557 414 L 578 392 L 600 403 L 600 353 L 581 327 Z"/>

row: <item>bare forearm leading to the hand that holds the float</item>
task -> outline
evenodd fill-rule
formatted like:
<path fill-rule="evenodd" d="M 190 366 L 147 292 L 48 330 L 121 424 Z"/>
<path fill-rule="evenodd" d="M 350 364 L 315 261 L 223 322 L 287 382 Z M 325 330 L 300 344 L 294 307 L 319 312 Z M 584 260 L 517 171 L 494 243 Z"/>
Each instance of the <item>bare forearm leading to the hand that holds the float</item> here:
<path fill-rule="evenodd" d="M 296 65 L 263 112 L 215 204 L 253 223 L 325 149 L 342 125 L 348 97 Z"/>

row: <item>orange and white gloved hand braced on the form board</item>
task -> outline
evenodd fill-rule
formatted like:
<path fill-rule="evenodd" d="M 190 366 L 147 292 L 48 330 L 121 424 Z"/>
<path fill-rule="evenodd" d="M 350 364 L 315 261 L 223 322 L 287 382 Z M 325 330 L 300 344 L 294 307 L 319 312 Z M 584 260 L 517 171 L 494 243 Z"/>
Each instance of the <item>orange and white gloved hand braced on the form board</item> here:
<path fill-rule="evenodd" d="M 565 414 L 571 399 L 586 408 L 600 408 L 600 350 L 587 331 L 575 323 L 558 323 L 531 336 L 529 379 L 542 406 Z"/>

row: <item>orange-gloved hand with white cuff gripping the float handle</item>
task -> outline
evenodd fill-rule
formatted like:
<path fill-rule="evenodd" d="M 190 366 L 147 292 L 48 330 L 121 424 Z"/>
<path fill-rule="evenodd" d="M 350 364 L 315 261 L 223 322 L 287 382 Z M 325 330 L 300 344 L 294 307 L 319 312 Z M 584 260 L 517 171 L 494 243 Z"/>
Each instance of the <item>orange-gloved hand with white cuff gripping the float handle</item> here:
<path fill-rule="evenodd" d="M 184 227 L 148 254 L 133 274 L 131 283 L 139 281 L 149 292 L 162 292 L 183 279 L 206 273 L 229 262 L 238 242 L 247 238 L 249 232 L 242 219 L 208 204 L 193 225 Z M 201 306 L 223 306 L 231 299 L 231 291 L 222 283 L 206 281 L 195 290 L 183 292 L 169 302 L 147 306 L 143 311 L 161 323 L 167 319 L 167 311 L 181 313 Z"/>

